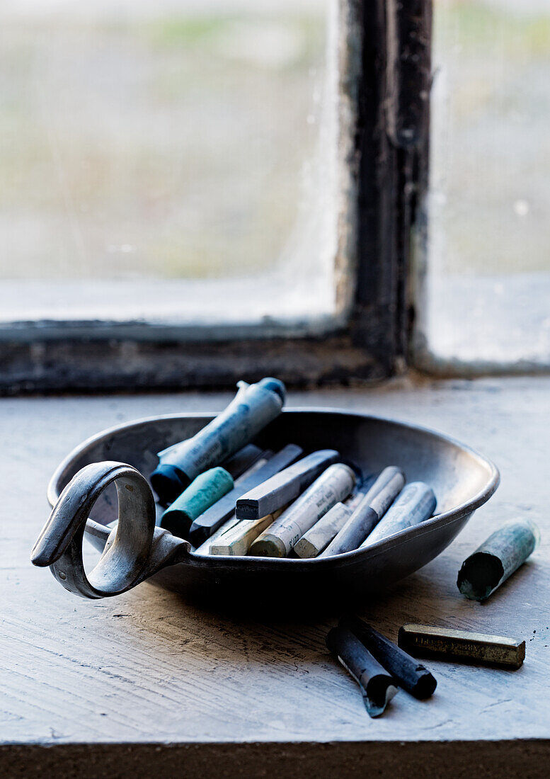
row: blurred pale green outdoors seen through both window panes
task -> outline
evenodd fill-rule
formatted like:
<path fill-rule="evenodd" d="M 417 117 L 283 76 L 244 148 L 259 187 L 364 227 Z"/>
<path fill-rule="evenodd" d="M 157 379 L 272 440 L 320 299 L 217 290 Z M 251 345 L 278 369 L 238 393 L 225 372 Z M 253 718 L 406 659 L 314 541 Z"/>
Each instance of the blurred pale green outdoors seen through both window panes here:
<path fill-rule="evenodd" d="M 549 5 L 435 0 L 435 272 L 548 269 Z M 330 7 L 3 0 L 0 276 L 234 277 L 288 256 Z"/>

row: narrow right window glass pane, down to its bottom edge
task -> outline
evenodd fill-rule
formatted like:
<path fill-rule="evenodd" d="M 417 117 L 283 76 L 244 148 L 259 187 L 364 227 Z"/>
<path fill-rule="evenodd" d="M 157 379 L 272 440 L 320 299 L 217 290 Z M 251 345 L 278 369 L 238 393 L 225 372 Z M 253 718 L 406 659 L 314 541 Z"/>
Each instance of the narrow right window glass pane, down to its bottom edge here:
<path fill-rule="evenodd" d="M 439 360 L 550 363 L 550 3 L 435 0 L 422 326 Z"/>

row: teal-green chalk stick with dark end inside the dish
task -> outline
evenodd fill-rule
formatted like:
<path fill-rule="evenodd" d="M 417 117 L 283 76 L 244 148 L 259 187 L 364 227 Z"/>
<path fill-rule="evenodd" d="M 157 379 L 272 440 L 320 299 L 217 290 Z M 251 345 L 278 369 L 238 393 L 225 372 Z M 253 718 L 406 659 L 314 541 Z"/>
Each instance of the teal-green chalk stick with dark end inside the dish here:
<path fill-rule="evenodd" d="M 194 479 L 160 518 L 160 527 L 179 538 L 187 538 L 189 528 L 206 509 L 233 489 L 233 478 L 224 468 L 210 468 Z"/>

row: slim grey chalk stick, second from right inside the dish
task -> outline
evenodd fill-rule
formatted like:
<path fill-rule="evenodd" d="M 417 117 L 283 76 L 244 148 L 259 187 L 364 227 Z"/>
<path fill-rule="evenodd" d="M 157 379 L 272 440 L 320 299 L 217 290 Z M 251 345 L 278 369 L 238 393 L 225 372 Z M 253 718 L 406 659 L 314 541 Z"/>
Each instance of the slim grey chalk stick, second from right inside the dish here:
<path fill-rule="evenodd" d="M 380 517 L 403 488 L 404 483 L 405 478 L 399 468 L 391 466 L 384 469 L 344 527 L 338 531 L 335 538 L 330 541 L 330 544 L 319 556 L 342 555 L 344 552 L 351 552 L 361 546 L 362 541 L 365 541 L 372 528 L 379 522 Z"/>

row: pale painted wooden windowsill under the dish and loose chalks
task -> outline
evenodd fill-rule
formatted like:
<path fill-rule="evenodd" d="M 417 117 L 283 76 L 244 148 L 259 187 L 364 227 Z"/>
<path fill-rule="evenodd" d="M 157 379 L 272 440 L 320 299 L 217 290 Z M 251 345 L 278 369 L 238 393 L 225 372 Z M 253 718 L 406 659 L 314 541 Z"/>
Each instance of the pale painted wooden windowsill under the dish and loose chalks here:
<path fill-rule="evenodd" d="M 362 613 L 393 639 L 405 622 L 524 638 L 523 668 L 426 663 L 439 682 L 433 698 L 421 703 L 401 691 L 378 720 L 369 720 L 357 686 L 327 654 L 330 616 L 323 623 L 236 621 L 146 583 L 84 601 L 30 565 L 48 516 L 48 478 L 73 446 L 120 421 L 217 411 L 229 397 L 0 401 L 2 774 L 72 775 L 70 764 L 83 776 L 146 776 L 146 767 L 199 776 L 219 760 L 230 774 L 365 775 L 382 761 L 388 772 L 407 766 L 414 775 L 430 765 L 438 775 L 452 758 L 461 776 L 475 755 L 476 765 L 487 767 L 484 776 L 502 775 L 502 767 L 512 775 L 522 760 L 531 764 L 529 776 L 538 775 L 550 743 L 550 377 L 400 379 L 371 390 L 290 393 L 294 406 L 428 425 L 481 450 L 502 474 L 495 496 L 450 548 Z M 456 587 L 460 562 L 517 516 L 539 523 L 541 548 L 485 605 L 465 600 Z"/>

